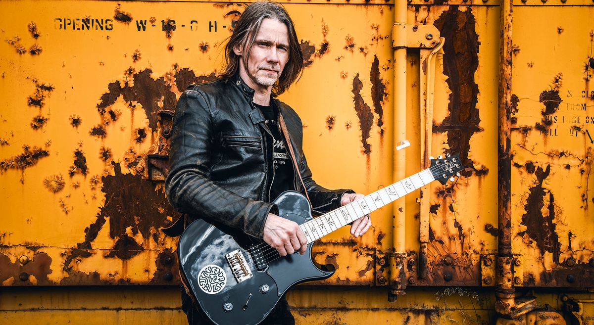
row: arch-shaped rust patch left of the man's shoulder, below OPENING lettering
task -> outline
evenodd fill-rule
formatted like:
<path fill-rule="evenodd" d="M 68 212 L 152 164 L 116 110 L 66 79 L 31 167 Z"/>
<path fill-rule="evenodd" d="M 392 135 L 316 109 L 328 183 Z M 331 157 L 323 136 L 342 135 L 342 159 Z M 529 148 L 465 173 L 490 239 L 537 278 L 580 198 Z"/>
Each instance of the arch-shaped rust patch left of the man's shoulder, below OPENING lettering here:
<path fill-rule="evenodd" d="M 175 110 L 177 99 L 175 93 L 171 91 L 171 86 L 165 81 L 165 77 L 155 80 L 151 77 L 152 73 L 151 69 L 144 69 L 132 75 L 134 80 L 132 87 L 130 87 L 129 83 L 126 83 L 124 87 L 120 87 L 118 81 L 110 83 L 108 92 L 101 96 L 100 103 L 97 104 L 99 114 L 103 116 L 108 107 L 112 106 L 121 95 L 127 103 L 136 101 L 142 105 L 144 113 L 149 119 L 149 128 L 155 132 L 159 119 L 157 112 L 161 109 Z M 162 103 L 163 107 L 160 107 L 160 103 Z M 102 132 L 100 130 L 96 132 L 103 134 L 93 134 L 93 131 L 91 131 L 91 135 L 105 136 L 105 129 Z"/>

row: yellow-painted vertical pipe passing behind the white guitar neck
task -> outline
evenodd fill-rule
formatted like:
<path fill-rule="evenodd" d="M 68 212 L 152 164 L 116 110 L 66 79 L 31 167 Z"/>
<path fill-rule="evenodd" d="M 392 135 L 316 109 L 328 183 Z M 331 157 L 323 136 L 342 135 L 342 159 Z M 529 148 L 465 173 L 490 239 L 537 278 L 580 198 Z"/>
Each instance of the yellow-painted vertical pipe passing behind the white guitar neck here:
<path fill-rule="evenodd" d="M 394 3 L 393 39 L 396 44 L 406 44 L 406 0 Z M 406 139 L 406 46 L 394 48 L 394 144 Z M 406 177 L 405 151 L 394 150 L 394 182 Z M 390 257 L 390 291 L 388 300 L 396 301 L 405 294 L 406 248 L 405 248 L 405 200 L 394 203 L 393 248 Z"/>

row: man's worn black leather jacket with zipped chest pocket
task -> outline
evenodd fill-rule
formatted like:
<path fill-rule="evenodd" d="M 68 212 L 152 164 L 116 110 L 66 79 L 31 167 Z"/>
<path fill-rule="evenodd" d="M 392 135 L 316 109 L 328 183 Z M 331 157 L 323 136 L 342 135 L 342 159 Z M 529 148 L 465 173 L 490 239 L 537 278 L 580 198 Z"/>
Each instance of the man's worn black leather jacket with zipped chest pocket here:
<path fill-rule="evenodd" d="M 264 116 L 252 104 L 254 90 L 236 75 L 191 85 L 179 98 L 170 138 L 165 191 L 189 219 L 207 218 L 262 239 L 268 212 L 275 212 L 267 189 L 267 137 Z M 285 119 L 299 172 L 314 211 L 340 206 L 350 190 L 328 190 L 311 178 L 302 149 L 302 123 L 293 109 L 273 99 Z M 295 189 L 302 192 L 295 177 Z"/>

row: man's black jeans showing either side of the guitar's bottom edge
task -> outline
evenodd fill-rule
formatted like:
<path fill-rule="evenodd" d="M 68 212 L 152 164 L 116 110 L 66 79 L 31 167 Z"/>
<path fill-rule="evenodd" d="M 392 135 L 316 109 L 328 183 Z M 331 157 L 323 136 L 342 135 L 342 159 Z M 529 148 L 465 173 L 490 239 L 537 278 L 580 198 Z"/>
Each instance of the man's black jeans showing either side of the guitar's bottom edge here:
<path fill-rule="evenodd" d="M 208 317 L 204 316 L 192 302 L 192 298 L 186 294 L 184 286 L 181 287 L 182 292 L 182 310 L 188 316 L 189 325 L 214 325 Z M 295 318 L 289 310 L 289 304 L 283 296 L 280 298 L 274 310 L 268 314 L 268 317 L 264 318 L 264 321 L 260 325 L 295 325 Z"/>

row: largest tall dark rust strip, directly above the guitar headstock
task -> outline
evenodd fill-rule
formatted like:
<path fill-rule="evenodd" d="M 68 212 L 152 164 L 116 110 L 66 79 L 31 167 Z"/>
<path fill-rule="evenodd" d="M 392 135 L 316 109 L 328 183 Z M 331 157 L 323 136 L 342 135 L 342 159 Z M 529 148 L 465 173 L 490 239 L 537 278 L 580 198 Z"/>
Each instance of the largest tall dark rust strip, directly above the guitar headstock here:
<path fill-rule="evenodd" d="M 435 21 L 435 27 L 445 37 L 444 43 L 444 74 L 451 90 L 448 111 L 450 115 L 434 126 L 435 133 L 447 132 L 448 152 L 460 153 L 460 161 L 466 167 L 463 176 L 472 176 L 478 172 L 475 162 L 468 158 L 470 138 L 479 128 L 481 119 L 478 102 L 478 85 L 475 82 L 475 72 L 478 68 L 478 34 L 475 31 L 475 17 L 472 8 L 459 11 L 458 6 L 450 6 L 448 11 L 441 14 Z M 484 168 L 482 174 L 488 173 Z"/>

